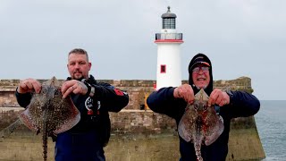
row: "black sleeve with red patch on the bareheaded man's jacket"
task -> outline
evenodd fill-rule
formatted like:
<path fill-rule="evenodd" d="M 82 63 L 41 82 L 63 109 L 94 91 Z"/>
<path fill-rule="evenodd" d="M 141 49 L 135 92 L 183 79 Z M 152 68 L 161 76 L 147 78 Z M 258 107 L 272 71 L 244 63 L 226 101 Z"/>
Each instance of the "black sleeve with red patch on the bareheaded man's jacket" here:
<path fill-rule="evenodd" d="M 95 98 L 101 102 L 103 110 L 110 112 L 120 112 L 124 106 L 128 105 L 129 96 L 121 89 L 115 89 L 108 83 L 98 83 L 95 87 Z"/>

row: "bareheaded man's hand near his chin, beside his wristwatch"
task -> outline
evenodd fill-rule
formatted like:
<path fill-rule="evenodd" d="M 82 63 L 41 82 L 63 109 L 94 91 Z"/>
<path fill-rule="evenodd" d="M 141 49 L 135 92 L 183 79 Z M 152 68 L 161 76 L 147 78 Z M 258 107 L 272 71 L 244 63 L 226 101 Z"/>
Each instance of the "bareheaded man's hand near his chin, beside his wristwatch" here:
<path fill-rule="evenodd" d="M 67 80 L 63 82 L 61 90 L 62 90 L 63 98 L 70 95 L 71 92 L 74 94 L 80 94 L 80 95 L 85 95 L 88 93 L 88 87 L 79 80 Z"/>

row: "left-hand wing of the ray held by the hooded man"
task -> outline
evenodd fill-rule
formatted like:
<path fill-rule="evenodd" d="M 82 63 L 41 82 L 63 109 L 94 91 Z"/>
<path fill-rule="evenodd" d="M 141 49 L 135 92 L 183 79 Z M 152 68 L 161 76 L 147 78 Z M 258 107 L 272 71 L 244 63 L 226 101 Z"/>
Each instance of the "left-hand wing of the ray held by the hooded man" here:
<path fill-rule="evenodd" d="M 187 142 L 193 140 L 192 132 L 196 131 L 196 119 L 197 114 L 194 106 L 188 105 L 186 107 L 186 112 L 182 115 L 181 121 L 178 125 L 179 135 L 183 140 L 186 140 Z"/>

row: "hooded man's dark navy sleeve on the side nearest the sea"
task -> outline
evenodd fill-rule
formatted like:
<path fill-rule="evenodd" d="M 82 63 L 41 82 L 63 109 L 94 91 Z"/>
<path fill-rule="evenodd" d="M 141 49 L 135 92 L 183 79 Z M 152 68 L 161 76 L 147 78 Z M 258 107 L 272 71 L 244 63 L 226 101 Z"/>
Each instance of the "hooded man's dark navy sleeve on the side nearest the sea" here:
<path fill-rule="evenodd" d="M 229 108 L 231 118 L 257 114 L 260 108 L 257 97 L 244 91 L 232 91 L 232 94 L 230 106 L 225 106 L 225 108 Z"/>

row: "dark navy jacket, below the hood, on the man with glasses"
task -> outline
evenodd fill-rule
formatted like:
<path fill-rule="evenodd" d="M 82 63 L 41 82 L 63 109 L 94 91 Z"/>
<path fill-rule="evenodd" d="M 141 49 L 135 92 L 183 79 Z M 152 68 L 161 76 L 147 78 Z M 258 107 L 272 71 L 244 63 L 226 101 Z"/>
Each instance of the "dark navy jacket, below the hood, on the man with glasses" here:
<path fill-rule="evenodd" d="M 147 105 L 156 113 L 166 114 L 175 119 L 177 126 L 185 112 L 187 103 L 184 99 L 173 97 L 174 88 L 163 88 L 147 97 Z M 233 91 L 231 104 L 220 107 L 219 114 L 223 117 L 224 131 L 210 146 L 202 146 L 204 160 L 225 160 L 228 153 L 228 140 L 231 118 L 257 114 L 260 103 L 257 97 L 247 92 Z M 180 137 L 181 160 L 197 160 L 194 145 Z"/>

